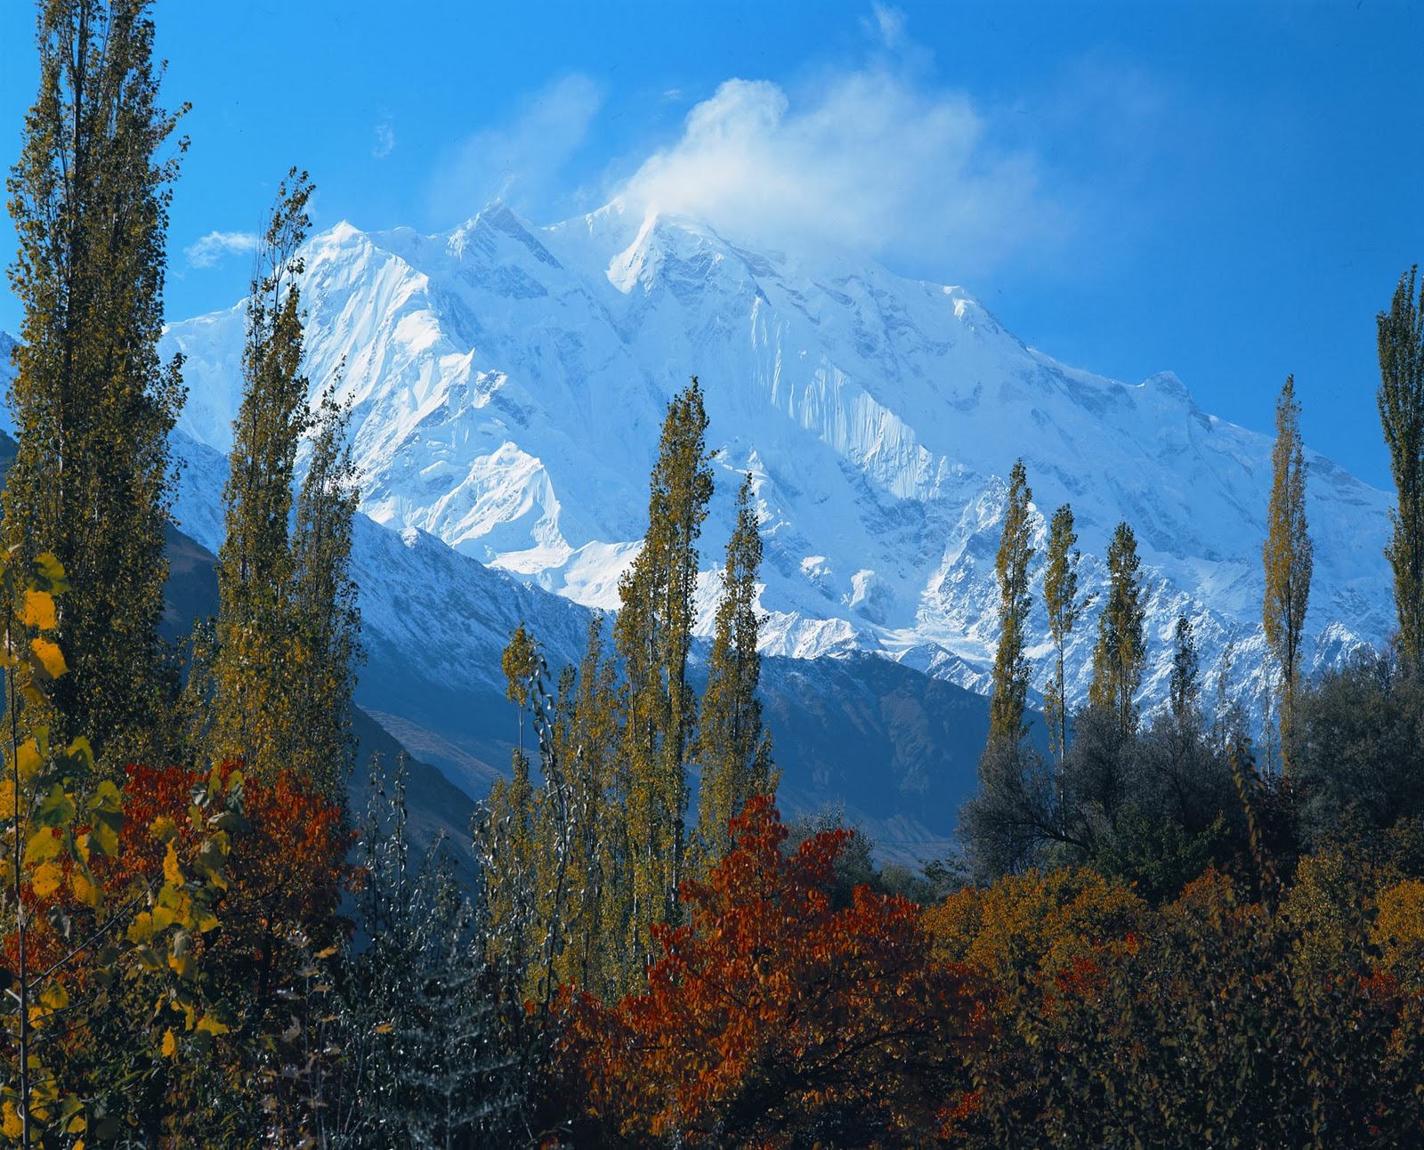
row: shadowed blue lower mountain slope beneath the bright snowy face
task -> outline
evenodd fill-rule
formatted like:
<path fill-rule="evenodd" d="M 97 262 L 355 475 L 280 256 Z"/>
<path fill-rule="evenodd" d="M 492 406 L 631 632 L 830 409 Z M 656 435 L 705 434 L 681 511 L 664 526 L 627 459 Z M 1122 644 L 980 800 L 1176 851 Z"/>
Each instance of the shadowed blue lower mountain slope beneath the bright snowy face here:
<path fill-rule="evenodd" d="M 225 461 L 181 431 L 175 445 L 189 460 L 178 517 L 216 549 L 221 538 L 201 532 L 221 521 L 214 480 Z M 506 771 L 517 732 L 500 669 L 510 633 L 527 623 L 557 677 L 582 653 L 592 612 L 414 528 L 396 532 L 357 515 L 353 537 L 367 652 L 356 702 L 464 796 L 481 798 Z M 701 668 L 693 682 L 701 687 Z M 864 655 L 768 659 L 762 696 L 789 814 L 842 806 L 886 858 L 946 854 L 988 730 L 983 696 Z"/>

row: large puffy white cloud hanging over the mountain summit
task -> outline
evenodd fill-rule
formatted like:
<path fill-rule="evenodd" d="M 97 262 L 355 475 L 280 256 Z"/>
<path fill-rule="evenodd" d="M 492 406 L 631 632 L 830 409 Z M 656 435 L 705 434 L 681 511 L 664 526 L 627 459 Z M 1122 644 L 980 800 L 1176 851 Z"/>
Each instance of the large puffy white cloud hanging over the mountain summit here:
<path fill-rule="evenodd" d="M 891 10 L 876 17 L 884 38 L 900 34 Z M 842 248 L 970 279 L 1064 222 L 1035 158 L 991 137 L 967 97 L 886 68 L 830 77 L 795 101 L 768 81 L 728 80 L 622 195 L 770 246 Z"/>

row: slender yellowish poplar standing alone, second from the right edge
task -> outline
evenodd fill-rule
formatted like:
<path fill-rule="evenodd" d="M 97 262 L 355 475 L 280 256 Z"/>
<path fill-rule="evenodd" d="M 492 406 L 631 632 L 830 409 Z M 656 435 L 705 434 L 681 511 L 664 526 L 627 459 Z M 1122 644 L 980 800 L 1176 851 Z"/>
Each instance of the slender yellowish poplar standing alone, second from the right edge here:
<path fill-rule="evenodd" d="M 1290 766 L 1290 734 L 1300 677 L 1300 638 L 1310 601 L 1312 552 L 1306 534 L 1306 457 L 1300 444 L 1300 404 L 1294 376 L 1286 377 L 1276 400 L 1276 445 L 1270 454 L 1270 502 L 1262 566 L 1266 598 L 1262 625 L 1266 646 L 1280 668 L 1282 764 Z"/>

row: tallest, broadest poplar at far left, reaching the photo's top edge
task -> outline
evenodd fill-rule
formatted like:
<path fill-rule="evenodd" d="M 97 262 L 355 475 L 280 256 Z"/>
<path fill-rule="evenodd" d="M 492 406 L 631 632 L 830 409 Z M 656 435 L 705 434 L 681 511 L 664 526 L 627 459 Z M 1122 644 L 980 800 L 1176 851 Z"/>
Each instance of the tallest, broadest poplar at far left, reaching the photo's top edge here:
<path fill-rule="evenodd" d="M 158 104 L 147 0 L 46 0 L 40 85 L 6 186 L 23 302 L 10 410 L 19 454 L 4 537 L 50 551 L 77 594 L 58 616 L 71 673 L 26 724 L 88 734 L 100 769 L 162 753 L 164 531 L 179 360 L 158 357 L 171 184 L 185 141 Z M 167 148 L 168 155 L 161 152 Z"/>

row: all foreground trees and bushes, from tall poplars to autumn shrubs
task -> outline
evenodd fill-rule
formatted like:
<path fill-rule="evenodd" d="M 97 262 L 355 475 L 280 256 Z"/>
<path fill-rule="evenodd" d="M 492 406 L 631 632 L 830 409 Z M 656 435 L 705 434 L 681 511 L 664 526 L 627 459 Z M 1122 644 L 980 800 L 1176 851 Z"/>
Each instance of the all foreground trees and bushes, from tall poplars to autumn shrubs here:
<path fill-rule="evenodd" d="M 399 764 L 347 801 L 356 492 L 346 413 L 329 389 L 313 411 L 300 370 L 310 182 L 296 171 L 248 306 L 221 612 L 185 652 L 158 640 L 181 364 L 157 359 L 175 168 L 155 155 L 177 120 L 157 107 L 151 43 L 144 0 L 41 4 L 41 91 L 10 181 L 26 326 L 0 564 L 0 1136 L 70 1150 L 1420 1140 L 1413 276 L 1380 317 L 1400 639 L 1314 683 L 1299 673 L 1310 547 L 1282 394 L 1269 763 L 1229 689 L 1203 705 L 1186 619 L 1171 703 L 1139 713 L 1126 524 L 1092 687 L 1068 697 L 1062 650 L 1089 609 L 1069 507 L 1048 528 L 1048 753 L 1027 742 L 1018 465 L 963 860 L 876 871 L 847 828 L 789 828 L 756 699 L 749 481 L 701 697 L 688 676 L 715 497 L 693 380 L 668 408 L 617 621 L 555 673 L 537 636 L 511 636 L 510 779 L 468 844 L 419 857 Z M 451 862 L 471 847 L 473 891 Z"/>

